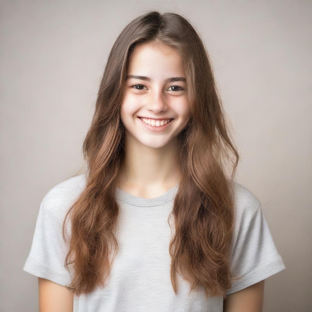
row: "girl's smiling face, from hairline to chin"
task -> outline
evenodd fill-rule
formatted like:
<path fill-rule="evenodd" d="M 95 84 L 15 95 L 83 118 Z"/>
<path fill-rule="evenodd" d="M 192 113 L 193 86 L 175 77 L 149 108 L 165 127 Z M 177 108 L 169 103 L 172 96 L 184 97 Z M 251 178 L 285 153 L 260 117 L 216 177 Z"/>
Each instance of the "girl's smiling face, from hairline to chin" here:
<path fill-rule="evenodd" d="M 171 47 L 136 46 L 120 109 L 126 134 L 152 148 L 175 138 L 188 123 L 185 79 L 183 60 Z"/>

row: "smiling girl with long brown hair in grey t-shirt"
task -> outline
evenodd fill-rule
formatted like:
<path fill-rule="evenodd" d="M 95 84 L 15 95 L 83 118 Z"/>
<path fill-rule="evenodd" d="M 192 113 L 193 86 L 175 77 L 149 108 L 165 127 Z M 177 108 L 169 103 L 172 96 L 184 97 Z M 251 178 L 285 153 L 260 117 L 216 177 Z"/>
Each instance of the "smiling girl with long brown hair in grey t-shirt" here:
<path fill-rule="evenodd" d="M 154 11 L 130 22 L 100 83 L 87 172 L 40 205 L 23 267 L 40 311 L 262 311 L 264 280 L 285 265 L 260 201 L 234 182 L 227 126 L 192 25 Z"/>

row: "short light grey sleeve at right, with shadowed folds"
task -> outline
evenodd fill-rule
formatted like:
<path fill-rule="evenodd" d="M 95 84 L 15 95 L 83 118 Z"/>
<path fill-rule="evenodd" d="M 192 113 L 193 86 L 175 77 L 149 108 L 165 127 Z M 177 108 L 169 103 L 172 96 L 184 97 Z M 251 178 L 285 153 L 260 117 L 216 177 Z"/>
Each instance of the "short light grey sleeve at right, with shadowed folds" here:
<path fill-rule="evenodd" d="M 259 204 L 245 227 L 239 229 L 232 249 L 232 273 L 240 278 L 232 282 L 226 295 L 256 284 L 286 269 L 271 236 Z"/>

